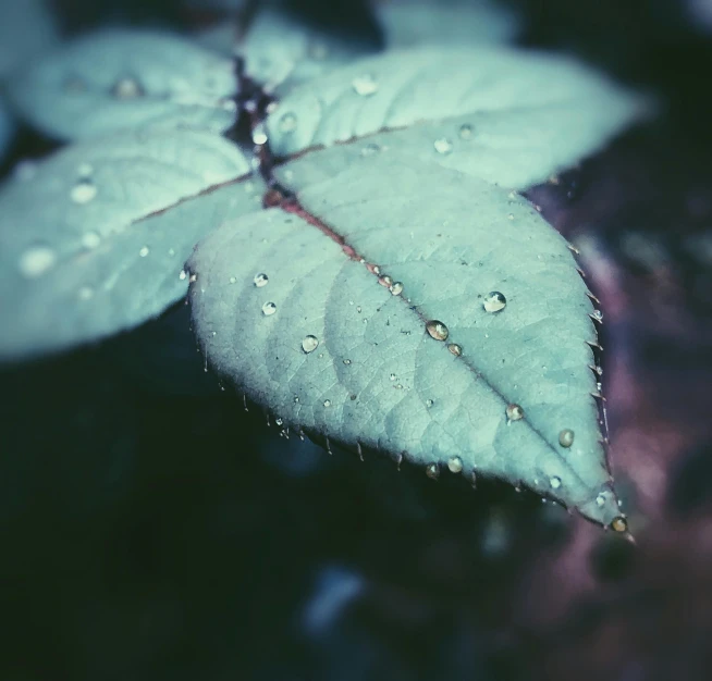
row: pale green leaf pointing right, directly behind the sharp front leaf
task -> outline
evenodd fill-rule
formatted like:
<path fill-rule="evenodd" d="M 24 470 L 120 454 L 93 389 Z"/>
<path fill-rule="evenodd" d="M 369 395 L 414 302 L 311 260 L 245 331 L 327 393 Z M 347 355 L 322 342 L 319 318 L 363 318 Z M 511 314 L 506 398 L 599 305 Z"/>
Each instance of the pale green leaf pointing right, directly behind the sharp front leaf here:
<path fill-rule="evenodd" d="M 566 58 L 423 48 L 364 59 L 295 88 L 267 128 L 281 157 L 369 136 L 371 146 L 526 187 L 597 150 L 643 108 Z"/>

